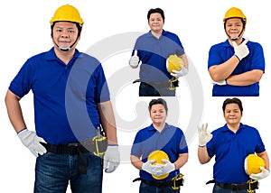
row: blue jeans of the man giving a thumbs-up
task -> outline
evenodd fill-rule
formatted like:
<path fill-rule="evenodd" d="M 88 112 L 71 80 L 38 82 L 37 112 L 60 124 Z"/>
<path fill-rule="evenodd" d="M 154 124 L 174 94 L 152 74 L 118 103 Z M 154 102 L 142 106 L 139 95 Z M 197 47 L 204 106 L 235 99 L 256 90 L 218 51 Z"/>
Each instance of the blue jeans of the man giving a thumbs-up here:
<path fill-rule="evenodd" d="M 175 90 L 161 87 L 159 90 L 144 83 L 140 83 L 139 97 L 175 97 Z"/>

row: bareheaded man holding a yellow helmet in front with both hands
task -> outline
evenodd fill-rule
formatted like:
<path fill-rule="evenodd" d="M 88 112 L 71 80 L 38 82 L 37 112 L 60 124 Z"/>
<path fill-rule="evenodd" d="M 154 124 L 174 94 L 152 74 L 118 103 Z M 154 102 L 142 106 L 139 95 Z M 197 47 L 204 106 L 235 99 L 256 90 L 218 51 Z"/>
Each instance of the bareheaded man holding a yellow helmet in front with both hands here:
<path fill-rule="evenodd" d="M 182 186 L 180 168 L 188 160 L 188 147 L 182 130 L 165 123 L 167 111 L 167 104 L 163 98 L 151 100 L 149 112 L 153 124 L 140 130 L 135 136 L 130 157 L 135 168 L 140 170 L 140 178 L 135 180 L 141 180 L 142 193 L 161 190 L 180 192 Z M 154 152 L 157 152 L 156 160 L 155 154 L 148 160 Z M 159 152 L 163 152 L 166 159 L 158 161 Z M 175 189 L 172 188 L 173 179 L 176 179 L 178 184 Z"/>

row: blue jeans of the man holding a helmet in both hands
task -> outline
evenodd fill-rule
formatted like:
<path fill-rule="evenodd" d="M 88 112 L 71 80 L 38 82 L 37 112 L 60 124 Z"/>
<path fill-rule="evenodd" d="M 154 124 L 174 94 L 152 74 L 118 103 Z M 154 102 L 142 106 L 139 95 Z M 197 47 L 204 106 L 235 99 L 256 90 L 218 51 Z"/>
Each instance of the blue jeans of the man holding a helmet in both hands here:
<path fill-rule="evenodd" d="M 143 181 L 140 183 L 139 193 L 179 193 L 180 189 L 173 189 L 171 187 L 158 188 L 149 186 Z"/>

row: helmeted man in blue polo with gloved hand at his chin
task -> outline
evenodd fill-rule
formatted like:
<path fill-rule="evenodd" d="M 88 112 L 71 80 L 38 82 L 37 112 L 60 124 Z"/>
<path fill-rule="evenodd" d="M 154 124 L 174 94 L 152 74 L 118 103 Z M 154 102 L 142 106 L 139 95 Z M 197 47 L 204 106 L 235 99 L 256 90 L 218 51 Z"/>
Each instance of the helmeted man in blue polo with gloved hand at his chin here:
<path fill-rule="evenodd" d="M 212 96 L 259 96 L 259 81 L 265 72 L 262 46 L 243 38 L 247 17 L 237 7 L 224 16 L 228 40 L 211 46 L 208 70 L 212 79 Z"/>

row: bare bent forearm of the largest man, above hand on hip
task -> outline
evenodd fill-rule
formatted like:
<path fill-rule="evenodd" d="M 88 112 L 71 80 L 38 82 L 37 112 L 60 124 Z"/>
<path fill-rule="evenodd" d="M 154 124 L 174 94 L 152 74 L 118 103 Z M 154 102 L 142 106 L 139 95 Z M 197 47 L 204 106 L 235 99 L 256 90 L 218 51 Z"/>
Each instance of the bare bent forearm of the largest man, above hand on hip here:
<path fill-rule="evenodd" d="M 19 101 L 20 97 L 15 96 L 13 92 L 7 90 L 5 96 L 5 106 L 10 122 L 13 125 L 16 133 L 20 132 L 26 127 Z"/>

